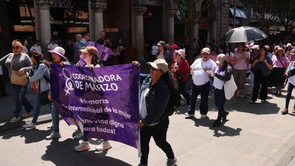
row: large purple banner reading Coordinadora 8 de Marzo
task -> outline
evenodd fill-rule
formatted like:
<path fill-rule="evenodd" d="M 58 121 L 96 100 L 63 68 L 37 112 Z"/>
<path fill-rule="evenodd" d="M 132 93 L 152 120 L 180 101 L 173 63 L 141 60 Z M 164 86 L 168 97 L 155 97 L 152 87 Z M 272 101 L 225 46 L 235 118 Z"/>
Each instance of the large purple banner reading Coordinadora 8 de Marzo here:
<path fill-rule="evenodd" d="M 50 65 L 54 104 L 68 125 L 83 136 L 139 147 L 140 67 Z"/>

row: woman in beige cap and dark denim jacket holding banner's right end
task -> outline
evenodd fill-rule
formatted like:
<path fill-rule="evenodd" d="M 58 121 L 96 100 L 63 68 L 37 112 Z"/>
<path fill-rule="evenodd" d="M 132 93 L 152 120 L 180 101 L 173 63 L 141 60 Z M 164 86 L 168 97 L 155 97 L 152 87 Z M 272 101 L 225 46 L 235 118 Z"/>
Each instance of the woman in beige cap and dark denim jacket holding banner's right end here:
<path fill-rule="evenodd" d="M 132 62 L 137 65 L 137 61 Z M 149 143 L 153 136 L 155 143 L 167 156 L 167 166 L 177 162 L 171 145 L 166 141 L 169 118 L 165 112 L 170 97 L 170 91 L 177 91 L 177 82 L 164 59 L 148 62 L 150 74 L 140 74 L 140 144 L 142 157 L 140 166 L 148 165 Z"/>

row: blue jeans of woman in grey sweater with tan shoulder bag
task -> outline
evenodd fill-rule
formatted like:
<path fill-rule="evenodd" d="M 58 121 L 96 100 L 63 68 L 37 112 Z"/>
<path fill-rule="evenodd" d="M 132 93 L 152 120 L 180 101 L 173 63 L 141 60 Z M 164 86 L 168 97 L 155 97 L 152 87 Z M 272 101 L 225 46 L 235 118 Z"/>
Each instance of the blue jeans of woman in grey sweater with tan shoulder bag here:
<path fill-rule="evenodd" d="M 14 91 L 14 103 L 15 103 L 15 109 L 13 112 L 14 116 L 18 116 L 19 113 L 22 111 L 22 105 L 24 105 L 24 108 L 27 112 L 30 112 L 31 109 L 34 107 L 29 102 L 26 93 L 28 90 L 27 85 L 16 85 L 11 84 L 12 90 Z"/>

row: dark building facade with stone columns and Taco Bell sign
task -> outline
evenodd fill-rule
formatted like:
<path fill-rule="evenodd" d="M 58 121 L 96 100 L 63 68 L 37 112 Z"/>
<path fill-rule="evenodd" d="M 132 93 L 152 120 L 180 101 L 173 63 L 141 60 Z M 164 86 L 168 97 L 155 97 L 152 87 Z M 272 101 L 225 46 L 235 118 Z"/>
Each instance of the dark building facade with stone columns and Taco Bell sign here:
<path fill-rule="evenodd" d="M 185 1 L 184 1 L 185 2 Z M 224 0 L 214 0 L 202 17 L 214 12 Z M 204 7 L 197 1 L 196 10 Z M 243 8 L 238 1 L 236 27 L 248 26 L 251 9 Z M 10 0 L 0 6 L 4 17 L 0 18 L 1 45 L 14 39 L 27 39 L 30 43 L 41 40 L 43 53 L 50 38 L 65 45 L 66 40 L 75 40 L 77 33 L 90 32 L 90 41 L 106 38 L 117 43 L 121 38 L 127 48 L 137 49 L 137 59 L 144 60 L 154 41 L 163 40 L 170 45 L 183 42 L 188 36 L 188 25 L 179 18 L 174 0 Z M 189 9 L 188 9 L 189 10 Z M 233 4 L 223 6 L 209 22 L 194 27 L 194 38 L 211 42 L 220 39 L 232 29 Z"/>

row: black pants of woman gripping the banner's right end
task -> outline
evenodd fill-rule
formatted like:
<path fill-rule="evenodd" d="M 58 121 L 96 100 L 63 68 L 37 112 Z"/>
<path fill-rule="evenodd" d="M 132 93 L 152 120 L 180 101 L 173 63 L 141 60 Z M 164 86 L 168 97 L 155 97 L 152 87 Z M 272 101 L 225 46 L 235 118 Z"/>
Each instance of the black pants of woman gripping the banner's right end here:
<path fill-rule="evenodd" d="M 142 157 L 140 164 L 148 164 L 148 154 L 150 152 L 150 139 L 153 139 L 156 145 L 165 152 L 168 159 L 174 159 L 174 153 L 171 145 L 167 142 L 167 130 L 169 126 L 169 118 L 165 118 L 154 126 L 142 126 L 140 129 L 140 146 Z"/>

